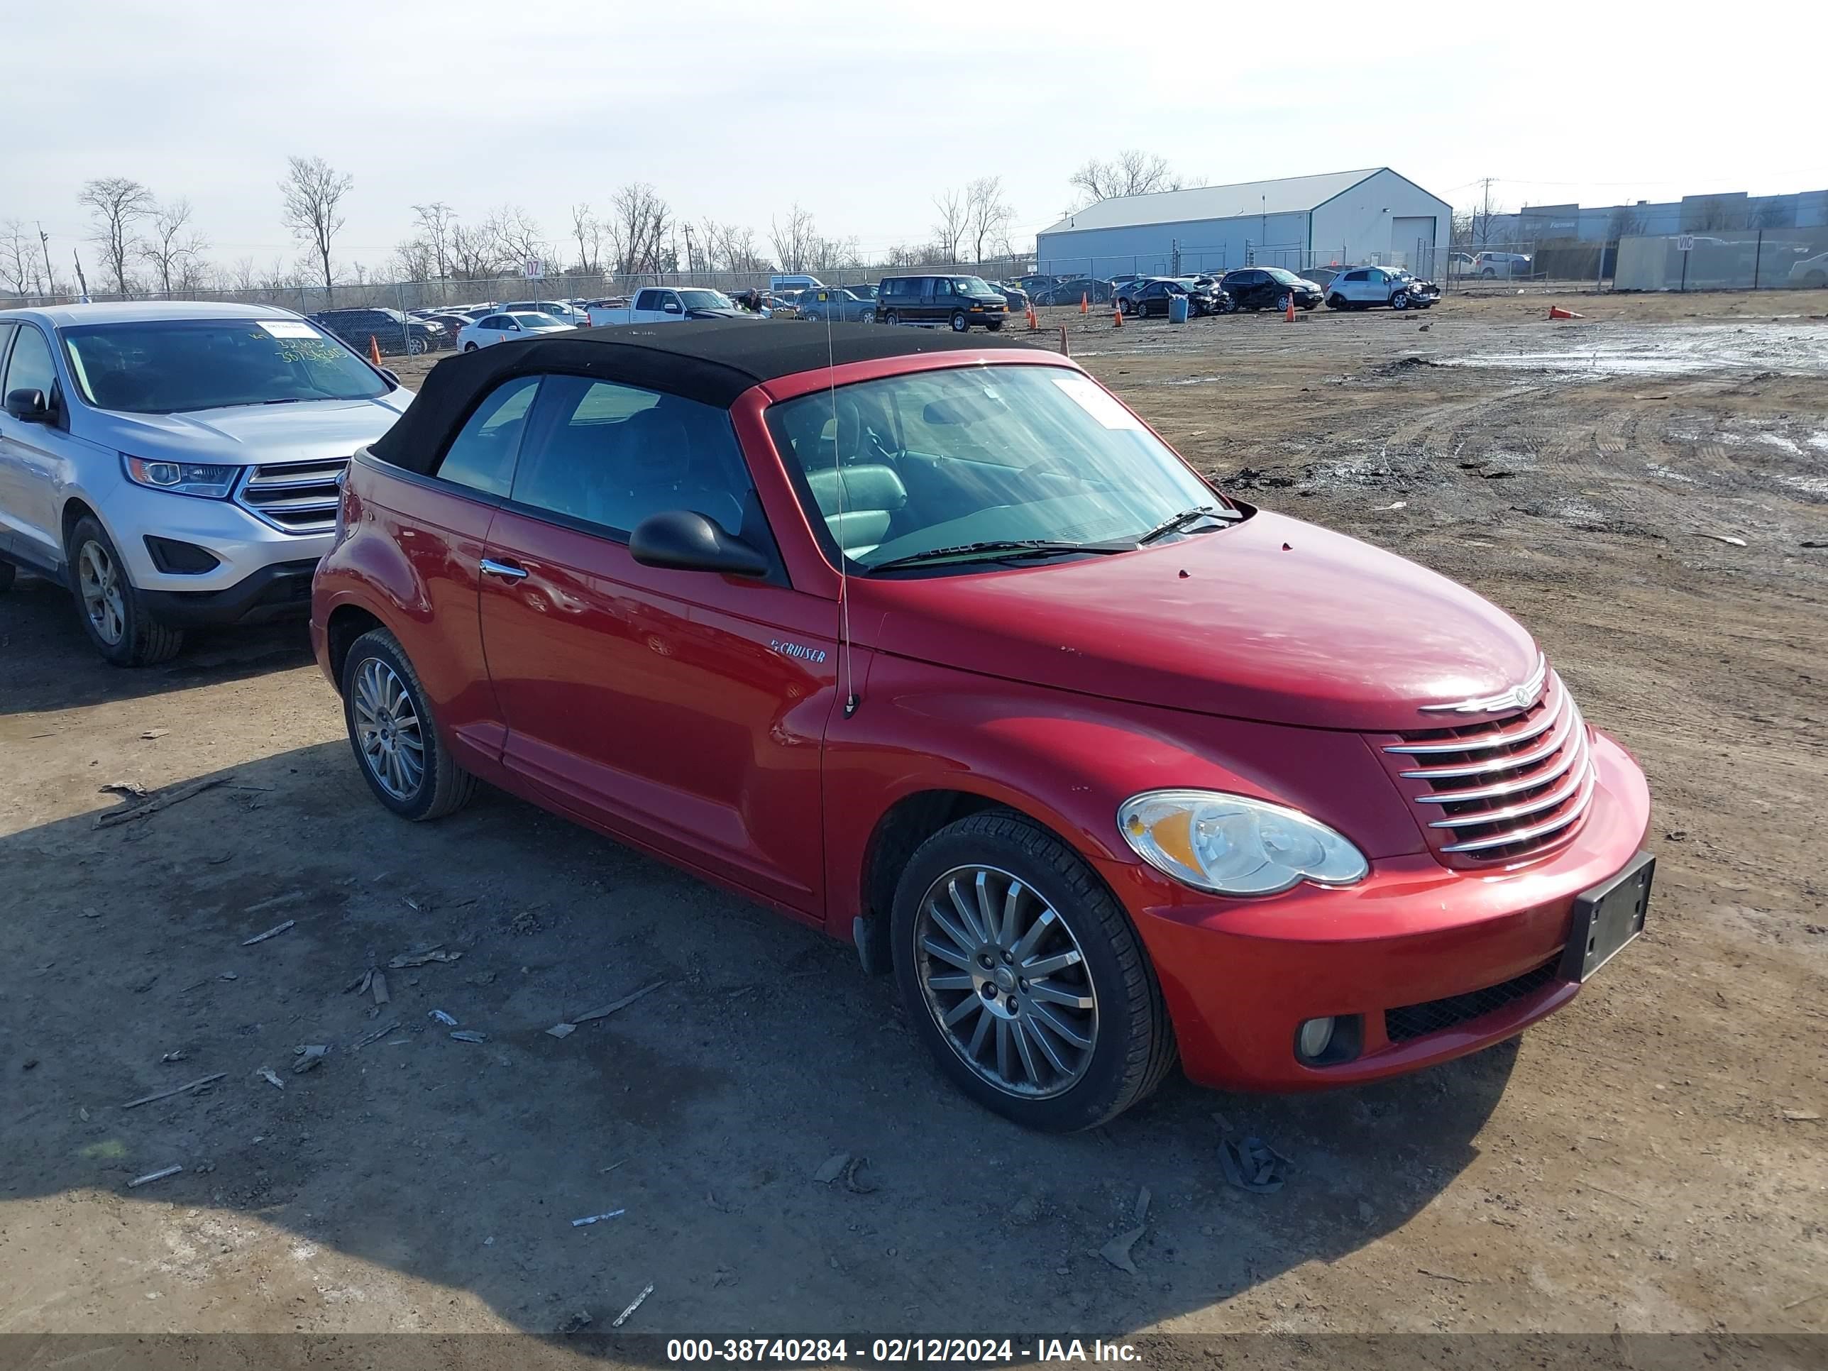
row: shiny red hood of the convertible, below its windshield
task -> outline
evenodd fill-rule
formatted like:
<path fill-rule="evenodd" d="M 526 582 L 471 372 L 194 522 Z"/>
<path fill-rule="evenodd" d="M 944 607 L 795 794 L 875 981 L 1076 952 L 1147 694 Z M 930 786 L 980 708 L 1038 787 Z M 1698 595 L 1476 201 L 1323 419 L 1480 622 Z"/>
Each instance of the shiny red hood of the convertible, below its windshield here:
<path fill-rule="evenodd" d="M 859 645 L 987 676 L 1270 724 L 1439 728 L 1537 662 L 1530 634 L 1444 576 L 1258 512 L 1137 552 L 850 583 Z"/>

